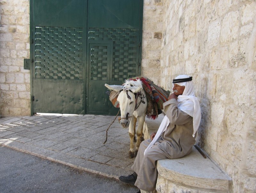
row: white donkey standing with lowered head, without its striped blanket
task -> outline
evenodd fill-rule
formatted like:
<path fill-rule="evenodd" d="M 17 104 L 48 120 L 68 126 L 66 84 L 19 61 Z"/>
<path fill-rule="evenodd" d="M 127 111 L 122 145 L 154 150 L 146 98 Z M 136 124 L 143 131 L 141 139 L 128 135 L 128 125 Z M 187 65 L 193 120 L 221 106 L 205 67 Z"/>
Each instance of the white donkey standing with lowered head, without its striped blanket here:
<path fill-rule="evenodd" d="M 129 150 L 129 158 L 137 155 L 140 143 L 142 139 L 142 129 L 145 122 L 146 111 L 147 111 L 147 99 L 146 93 L 142 88 L 142 82 L 137 79 L 137 81 L 128 81 L 120 86 L 120 85 L 108 85 L 105 86 L 116 92 L 120 92 L 117 101 L 120 105 L 121 118 L 119 118 L 119 122 L 123 128 L 127 128 L 129 126 L 129 136 L 130 136 L 130 150 Z M 144 98 L 146 99 L 144 101 Z M 138 128 L 137 128 L 137 142 L 136 149 L 134 150 L 133 141 L 135 139 L 135 127 L 136 122 L 138 120 Z"/>

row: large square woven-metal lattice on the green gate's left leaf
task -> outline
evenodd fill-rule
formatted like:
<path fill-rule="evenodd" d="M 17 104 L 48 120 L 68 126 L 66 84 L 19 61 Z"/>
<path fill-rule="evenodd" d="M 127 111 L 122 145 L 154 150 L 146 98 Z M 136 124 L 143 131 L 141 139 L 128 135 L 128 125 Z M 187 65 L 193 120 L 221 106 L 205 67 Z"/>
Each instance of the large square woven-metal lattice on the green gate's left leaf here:
<path fill-rule="evenodd" d="M 36 78 L 83 79 L 82 29 L 36 27 Z"/>

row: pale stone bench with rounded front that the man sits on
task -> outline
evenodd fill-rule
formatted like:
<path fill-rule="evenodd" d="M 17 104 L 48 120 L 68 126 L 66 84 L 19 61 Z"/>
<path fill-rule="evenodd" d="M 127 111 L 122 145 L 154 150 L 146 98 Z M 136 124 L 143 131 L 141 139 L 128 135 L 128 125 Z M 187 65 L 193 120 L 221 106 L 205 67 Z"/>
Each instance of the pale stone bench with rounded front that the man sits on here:
<path fill-rule="evenodd" d="M 145 140 L 157 131 L 163 118 L 164 114 L 160 114 L 156 120 L 145 120 Z M 231 178 L 209 156 L 204 158 L 195 147 L 183 158 L 157 161 L 157 171 L 155 192 L 232 192 Z"/>

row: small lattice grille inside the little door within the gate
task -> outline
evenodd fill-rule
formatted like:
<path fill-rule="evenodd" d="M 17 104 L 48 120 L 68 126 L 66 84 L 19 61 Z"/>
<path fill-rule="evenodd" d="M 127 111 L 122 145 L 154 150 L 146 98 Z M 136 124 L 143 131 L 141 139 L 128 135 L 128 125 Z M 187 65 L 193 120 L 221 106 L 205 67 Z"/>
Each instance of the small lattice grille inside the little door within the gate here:
<path fill-rule="evenodd" d="M 108 76 L 108 47 L 93 45 L 90 49 L 91 80 L 106 81 Z"/>

